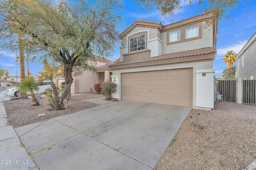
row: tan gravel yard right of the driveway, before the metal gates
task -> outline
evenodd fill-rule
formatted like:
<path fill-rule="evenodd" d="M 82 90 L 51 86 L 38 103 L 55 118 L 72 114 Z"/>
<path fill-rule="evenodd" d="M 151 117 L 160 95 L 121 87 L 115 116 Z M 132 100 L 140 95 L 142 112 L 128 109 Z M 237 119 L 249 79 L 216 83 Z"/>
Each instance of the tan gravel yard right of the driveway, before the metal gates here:
<path fill-rule="evenodd" d="M 192 109 L 156 170 L 241 170 L 256 158 L 256 106 Z"/>

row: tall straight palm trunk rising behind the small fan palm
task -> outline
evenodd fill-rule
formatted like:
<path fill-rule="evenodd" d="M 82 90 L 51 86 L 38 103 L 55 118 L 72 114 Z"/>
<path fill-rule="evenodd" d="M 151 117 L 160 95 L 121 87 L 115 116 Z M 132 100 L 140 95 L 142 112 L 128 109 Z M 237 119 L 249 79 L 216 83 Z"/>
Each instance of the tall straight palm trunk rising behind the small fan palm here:
<path fill-rule="evenodd" d="M 25 79 L 24 42 L 23 37 L 18 33 L 19 59 L 20 59 L 20 81 Z M 20 93 L 20 99 L 28 99 L 27 94 Z"/>

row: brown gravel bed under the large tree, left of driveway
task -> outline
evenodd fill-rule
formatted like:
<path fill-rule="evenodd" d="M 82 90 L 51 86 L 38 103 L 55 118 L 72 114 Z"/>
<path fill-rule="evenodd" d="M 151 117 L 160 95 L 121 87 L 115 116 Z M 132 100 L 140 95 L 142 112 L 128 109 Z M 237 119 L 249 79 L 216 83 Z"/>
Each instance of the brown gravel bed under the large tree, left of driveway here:
<path fill-rule="evenodd" d="M 8 117 L 8 124 L 16 128 L 99 106 L 98 104 L 82 102 L 81 100 L 100 97 L 102 97 L 101 94 L 72 96 L 71 100 L 68 102 L 68 108 L 60 111 L 52 111 L 50 106 L 45 106 L 46 98 L 39 100 L 40 106 L 32 106 L 31 99 L 3 101 L 3 103 Z M 38 116 L 39 114 L 46 115 Z"/>

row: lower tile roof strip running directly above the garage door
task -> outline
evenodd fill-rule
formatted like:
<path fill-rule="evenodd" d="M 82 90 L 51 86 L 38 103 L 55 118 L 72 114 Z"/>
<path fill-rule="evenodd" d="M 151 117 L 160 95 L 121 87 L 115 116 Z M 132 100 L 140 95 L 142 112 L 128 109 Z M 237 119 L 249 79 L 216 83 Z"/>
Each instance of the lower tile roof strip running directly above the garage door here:
<path fill-rule="evenodd" d="M 110 65 L 112 66 L 121 66 L 126 64 L 136 64 L 136 63 L 146 63 L 150 61 L 159 61 L 159 60 L 165 60 L 165 59 L 175 59 L 180 57 L 189 57 L 189 56 L 195 56 L 195 55 L 203 55 L 203 54 L 210 54 L 210 53 L 217 53 L 216 47 L 206 47 L 201 49 L 193 49 L 193 50 L 187 50 L 187 51 L 180 51 L 175 53 L 168 53 L 159 55 L 157 57 L 151 57 L 149 59 L 142 59 L 142 60 L 136 60 L 136 61 L 127 61 L 127 62 L 119 62 L 116 64 Z"/>

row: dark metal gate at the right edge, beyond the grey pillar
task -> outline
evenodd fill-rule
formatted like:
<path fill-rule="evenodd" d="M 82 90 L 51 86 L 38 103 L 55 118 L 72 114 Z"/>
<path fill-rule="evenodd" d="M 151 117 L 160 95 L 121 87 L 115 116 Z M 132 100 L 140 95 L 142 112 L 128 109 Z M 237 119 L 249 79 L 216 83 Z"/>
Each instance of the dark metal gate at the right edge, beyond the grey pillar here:
<path fill-rule="evenodd" d="M 242 80 L 242 103 L 256 104 L 256 80 Z"/>

